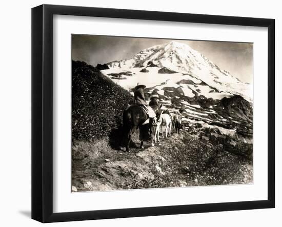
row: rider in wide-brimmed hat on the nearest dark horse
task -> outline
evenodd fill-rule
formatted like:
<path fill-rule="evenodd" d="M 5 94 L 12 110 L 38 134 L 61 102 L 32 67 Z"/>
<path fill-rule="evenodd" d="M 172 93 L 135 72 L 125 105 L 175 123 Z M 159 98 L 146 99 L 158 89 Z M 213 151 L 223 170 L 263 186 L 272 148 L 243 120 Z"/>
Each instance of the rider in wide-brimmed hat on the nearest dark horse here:
<path fill-rule="evenodd" d="M 149 107 L 146 102 L 145 95 L 144 95 L 145 88 L 146 88 L 145 85 L 137 84 L 137 86 L 135 87 L 135 91 L 134 91 L 134 104 L 144 106 L 148 112 L 151 122 L 154 122 L 154 117 L 156 116 L 156 114 L 155 114 L 155 111 L 151 107 Z"/>

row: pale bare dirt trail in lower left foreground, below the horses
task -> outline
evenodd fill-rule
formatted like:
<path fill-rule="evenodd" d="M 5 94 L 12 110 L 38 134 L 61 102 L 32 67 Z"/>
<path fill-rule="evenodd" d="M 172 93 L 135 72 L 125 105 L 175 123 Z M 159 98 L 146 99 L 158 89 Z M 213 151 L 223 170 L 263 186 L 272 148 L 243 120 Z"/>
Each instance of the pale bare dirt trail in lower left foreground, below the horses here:
<path fill-rule="evenodd" d="M 131 148 L 131 152 L 116 151 L 108 147 L 82 160 L 73 160 L 73 191 L 117 190 L 129 187 L 138 180 L 154 179 L 153 169 L 162 174 L 159 162 L 166 161 L 168 150 L 175 142 L 182 142 L 182 134 L 161 139 L 155 147 L 145 143 L 145 149 Z M 138 143 L 136 143 L 138 145 Z M 81 151 L 80 151 L 81 152 Z"/>

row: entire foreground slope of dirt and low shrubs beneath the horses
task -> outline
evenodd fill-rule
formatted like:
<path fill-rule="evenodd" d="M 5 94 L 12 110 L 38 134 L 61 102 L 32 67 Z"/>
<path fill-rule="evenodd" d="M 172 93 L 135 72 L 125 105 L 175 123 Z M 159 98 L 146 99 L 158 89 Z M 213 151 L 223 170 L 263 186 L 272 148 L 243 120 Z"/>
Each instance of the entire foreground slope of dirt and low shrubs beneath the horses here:
<path fill-rule="evenodd" d="M 183 187 L 252 182 L 252 161 L 188 132 L 156 147 L 112 150 L 106 140 L 73 148 L 73 181 L 78 191 Z"/>

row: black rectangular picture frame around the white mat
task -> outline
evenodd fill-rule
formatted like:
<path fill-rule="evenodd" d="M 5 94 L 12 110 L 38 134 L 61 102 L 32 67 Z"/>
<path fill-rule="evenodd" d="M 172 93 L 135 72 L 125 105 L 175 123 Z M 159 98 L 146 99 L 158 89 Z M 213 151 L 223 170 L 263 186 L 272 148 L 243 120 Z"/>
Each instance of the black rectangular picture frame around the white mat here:
<path fill-rule="evenodd" d="M 268 28 L 268 199 L 53 213 L 53 15 L 163 20 Z M 235 211 L 275 207 L 275 20 L 173 12 L 41 5 L 32 9 L 32 219 L 41 222 Z"/>

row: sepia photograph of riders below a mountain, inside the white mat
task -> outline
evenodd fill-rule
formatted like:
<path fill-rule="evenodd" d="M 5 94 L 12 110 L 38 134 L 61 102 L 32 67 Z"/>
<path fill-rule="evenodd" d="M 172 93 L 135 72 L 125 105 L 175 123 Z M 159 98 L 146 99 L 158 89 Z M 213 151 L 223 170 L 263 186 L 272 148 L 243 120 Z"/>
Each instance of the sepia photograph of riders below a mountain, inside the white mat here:
<path fill-rule="evenodd" d="M 72 192 L 253 183 L 253 44 L 72 34 Z"/>

